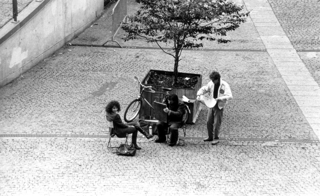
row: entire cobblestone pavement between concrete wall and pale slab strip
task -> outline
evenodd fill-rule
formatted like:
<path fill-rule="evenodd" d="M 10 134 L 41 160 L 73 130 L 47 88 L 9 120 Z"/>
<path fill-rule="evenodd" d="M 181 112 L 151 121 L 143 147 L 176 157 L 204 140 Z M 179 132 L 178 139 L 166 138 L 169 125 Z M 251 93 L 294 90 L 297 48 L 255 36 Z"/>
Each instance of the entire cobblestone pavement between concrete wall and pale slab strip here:
<path fill-rule="evenodd" d="M 70 43 L 106 42 L 109 12 Z M 0 195 L 319 195 L 319 140 L 252 21 L 229 36 L 232 44 L 206 43 L 217 51 L 183 51 L 179 67 L 203 74 L 203 85 L 217 69 L 231 86 L 234 99 L 215 146 L 202 141 L 203 107 L 185 146 L 155 144 L 139 133 L 142 150 L 134 157 L 107 148 L 108 101 L 124 108 L 138 93 L 133 76 L 172 69 L 160 50 L 134 48 L 153 46 L 146 43 L 65 46 L 1 88 Z M 317 58 L 299 55 L 317 73 Z"/>

